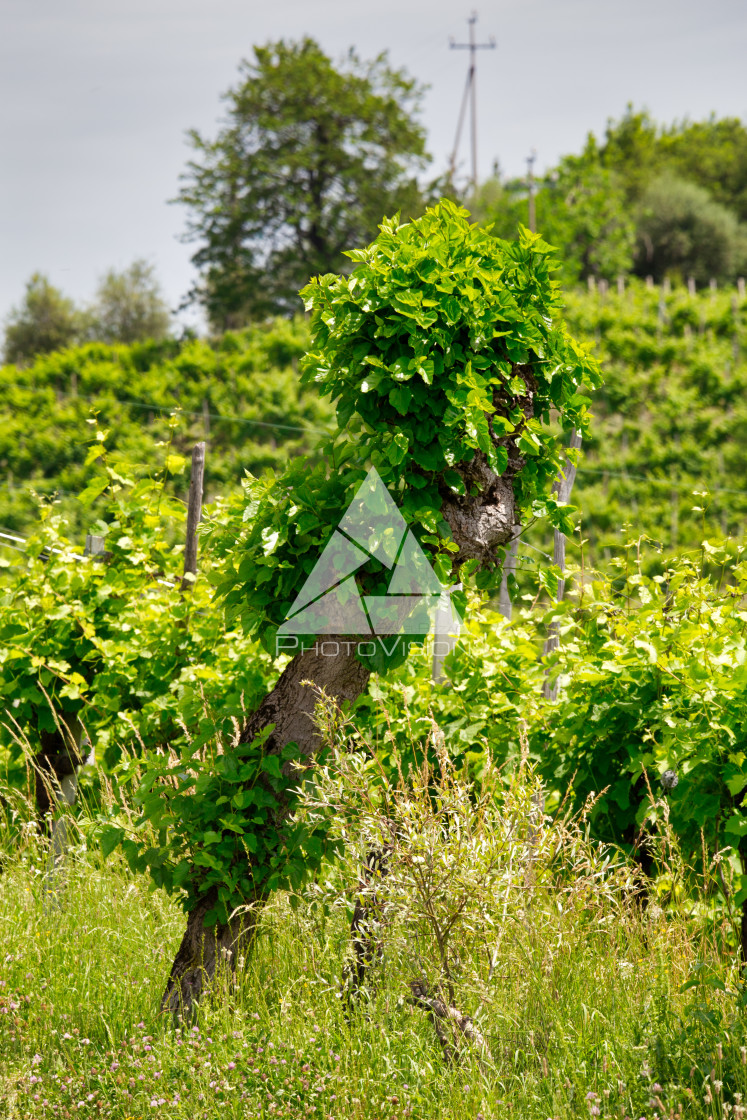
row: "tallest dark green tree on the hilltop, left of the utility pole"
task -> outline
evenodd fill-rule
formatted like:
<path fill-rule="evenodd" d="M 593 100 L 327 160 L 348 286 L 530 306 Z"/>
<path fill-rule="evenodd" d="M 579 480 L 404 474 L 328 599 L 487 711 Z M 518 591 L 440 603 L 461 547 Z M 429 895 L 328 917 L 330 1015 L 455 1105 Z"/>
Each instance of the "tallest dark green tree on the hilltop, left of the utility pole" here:
<path fill-rule="evenodd" d="M 382 213 L 422 206 L 428 161 L 414 119 L 421 88 L 380 55 L 353 50 L 336 69 L 309 38 L 255 47 L 225 100 L 215 140 L 192 131 L 197 158 L 176 200 L 202 281 L 189 293 L 215 328 L 300 310 L 309 277 L 339 271 Z"/>

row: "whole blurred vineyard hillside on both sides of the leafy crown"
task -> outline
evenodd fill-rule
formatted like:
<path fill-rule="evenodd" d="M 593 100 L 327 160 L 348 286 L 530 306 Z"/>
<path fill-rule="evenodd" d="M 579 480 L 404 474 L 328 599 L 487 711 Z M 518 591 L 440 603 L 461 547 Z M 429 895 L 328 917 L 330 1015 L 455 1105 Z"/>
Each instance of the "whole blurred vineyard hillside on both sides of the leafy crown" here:
<path fill-rule="evenodd" d="M 747 523 L 747 298 L 738 289 L 691 295 L 629 282 L 614 290 L 570 290 L 571 333 L 600 360 L 592 438 L 572 501 L 582 512 L 589 559 L 604 563 L 626 523 L 665 550 L 702 536 L 744 533 Z M 296 372 L 302 319 L 228 332 L 211 342 L 87 346 L 0 370 L 0 525 L 22 531 L 34 519 L 28 491 L 73 501 L 90 477 L 87 419 L 99 412 L 108 446 L 144 472 L 155 445 L 175 449 L 207 439 L 208 496 L 244 470 L 281 466 L 314 446 L 328 403 L 301 390 Z M 181 478 L 175 484 L 185 486 Z M 707 491 L 706 497 L 693 491 Z M 704 512 L 694 510 L 700 506 Z M 78 525 L 81 529 L 82 526 Z M 532 540 L 534 536 L 532 535 Z M 539 540 L 535 543 L 540 543 Z"/>

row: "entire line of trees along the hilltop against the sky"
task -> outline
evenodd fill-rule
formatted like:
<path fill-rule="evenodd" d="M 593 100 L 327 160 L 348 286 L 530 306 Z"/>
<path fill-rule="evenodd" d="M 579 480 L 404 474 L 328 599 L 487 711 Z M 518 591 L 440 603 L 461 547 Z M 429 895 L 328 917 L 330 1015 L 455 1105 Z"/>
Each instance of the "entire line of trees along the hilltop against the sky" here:
<path fill-rule="evenodd" d="M 371 240 L 382 215 L 417 217 L 442 196 L 515 239 L 527 223 L 525 179 L 506 180 L 497 166 L 477 190 L 447 175 L 423 178 L 423 93 L 385 54 L 364 62 L 351 50 L 335 65 L 308 37 L 254 47 L 215 136 L 188 133 L 194 157 L 172 202 L 186 209 L 197 276 L 181 306 L 199 306 L 214 333 L 292 316 L 310 277 L 351 270 L 345 246 Z M 603 140 L 589 133 L 581 153 L 535 187 L 536 228 L 558 249 L 567 284 L 637 274 L 703 286 L 747 272 L 747 128 L 738 119 L 663 127 L 628 105 Z M 36 274 L 7 321 L 4 358 L 158 338 L 169 323 L 143 261 L 108 273 L 87 309 Z"/>

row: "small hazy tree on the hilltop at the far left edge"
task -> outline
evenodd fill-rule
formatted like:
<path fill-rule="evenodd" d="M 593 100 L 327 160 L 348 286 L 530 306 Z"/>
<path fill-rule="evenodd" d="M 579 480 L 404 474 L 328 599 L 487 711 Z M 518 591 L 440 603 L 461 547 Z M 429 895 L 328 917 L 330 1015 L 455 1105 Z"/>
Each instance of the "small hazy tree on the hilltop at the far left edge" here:
<path fill-rule="evenodd" d="M 4 332 L 6 362 L 26 363 L 36 354 L 71 346 L 82 328 L 80 311 L 45 276 L 35 272 L 26 284 L 20 307 L 8 316 Z"/>

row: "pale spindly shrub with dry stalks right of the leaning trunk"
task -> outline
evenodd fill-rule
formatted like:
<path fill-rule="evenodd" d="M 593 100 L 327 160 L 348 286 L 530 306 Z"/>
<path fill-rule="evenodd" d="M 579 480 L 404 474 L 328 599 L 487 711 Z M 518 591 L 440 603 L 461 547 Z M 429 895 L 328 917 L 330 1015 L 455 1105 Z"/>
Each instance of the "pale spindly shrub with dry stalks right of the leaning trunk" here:
<path fill-rule="evenodd" d="M 354 894 L 347 991 L 400 969 L 445 1057 L 468 1044 L 489 1062 L 479 1016 L 510 959 L 561 951 L 572 922 L 559 925 L 559 914 L 583 912 L 585 928 L 607 921 L 625 906 L 634 872 L 589 840 L 596 797 L 576 815 L 544 812 L 526 756 L 507 774 L 485 744 L 473 776 L 431 719 L 424 741 L 411 745 L 417 764 L 385 769 L 351 718 L 323 691 L 317 699 L 326 753 L 301 785 L 297 815 L 330 827 L 340 852 L 336 874 L 309 895 L 342 906 Z"/>

